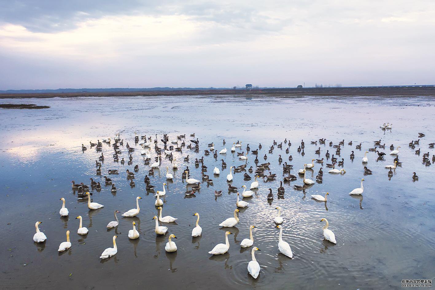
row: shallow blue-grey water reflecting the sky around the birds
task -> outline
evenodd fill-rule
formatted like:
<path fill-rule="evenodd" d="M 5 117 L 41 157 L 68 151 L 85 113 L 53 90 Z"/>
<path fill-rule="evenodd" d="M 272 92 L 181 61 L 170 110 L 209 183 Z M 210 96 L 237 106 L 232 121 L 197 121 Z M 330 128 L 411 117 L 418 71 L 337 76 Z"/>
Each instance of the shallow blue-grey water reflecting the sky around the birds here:
<path fill-rule="evenodd" d="M 10 103 L 3 99 L 0 103 Z M 201 289 L 398 289 L 402 279 L 433 279 L 435 231 L 433 217 L 435 209 L 434 171 L 435 165 L 422 164 L 422 154 L 435 154 L 428 143 L 435 141 L 434 123 L 435 98 L 367 98 L 337 97 L 119 97 L 119 98 L 51 98 L 32 100 L 37 105 L 51 108 L 41 110 L 1 110 L 2 137 L 0 157 L 2 168 L 2 206 L 0 210 L 0 280 L 3 289 L 23 289 L 45 285 L 48 288 L 64 289 L 167 289 L 169 287 Z M 13 103 L 29 103 L 29 100 L 13 100 Z M 382 131 L 384 122 L 393 123 L 393 129 Z M 140 156 L 140 146 L 134 145 L 134 132 L 138 135 L 157 134 L 159 140 L 164 133 L 173 140 L 176 135 L 196 133 L 200 140 L 200 151 L 184 148 L 174 152 L 179 164 L 173 182 L 167 182 L 163 215 L 177 217 L 177 223 L 164 224 L 169 231 L 165 236 L 154 233 L 157 215 L 154 207 L 154 192 L 145 190 L 144 176 L 149 167 Z M 415 155 L 408 147 L 411 140 L 420 138 L 421 155 Z M 89 148 L 89 141 L 96 142 L 106 136 L 113 138 L 120 133 L 124 139 L 121 157 L 128 159 L 126 142 L 138 148 L 133 153 L 133 164 L 113 162 L 113 149 L 104 144 L 106 156 L 102 175 L 96 175 L 95 160 L 100 155 L 94 148 L 81 151 L 81 144 Z M 273 140 L 278 144 L 287 138 L 291 143 L 290 153 L 277 148 L 272 154 L 268 148 Z M 326 138 L 326 145 L 311 145 L 310 141 Z M 252 198 L 244 199 L 249 207 L 241 209 L 237 227 L 229 230 L 230 250 L 221 256 L 207 252 L 215 244 L 224 243 L 227 228 L 218 226 L 231 217 L 236 208 L 236 194 L 228 193 L 226 175 L 231 165 L 241 165 L 236 154 L 228 150 L 215 160 L 204 156 L 206 174 L 214 185 L 201 184 L 194 197 L 185 198 L 186 183 L 181 172 L 186 166 L 191 177 L 201 179 L 201 169 L 194 165 L 201 158 L 207 144 L 214 142 L 219 151 L 224 146 L 231 148 L 232 142 L 242 141 L 245 151 L 263 146 L 258 154 L 260 163 L 271 162 L 271 172 L 277 174 L 273 182 L 260 179 L 258 191 Z M 305 141 L 305 156 L 297 152 L 301 139 Z M 294 165 L 292 174 L 309 163 L 312 158 L 325 158 L 326 150 L 335 154 L 330 141 L 338 144 L 345 139 L 340 158 L 344 158 L 344 175 L 331 175 L 323 166 L 323 183 L 295 190 L 293 184 L 302 184 L 302 179 L 284 184 L 285 197 L 276 196 L 279 181 L 284 176 L 278 155 L 283 161 Z M 368 153 L 368 168 L 373 175 L 364 176 L 361 158 L 365 149 L 374 147 L 373 140 L 382 140 L 386 148 L 385 160 L 377 161 L 377 154 Z M 349 141 L 353 145 L 348 145 Z M 362 143 L 362 150 L 355 145 Z M 399 158 L 402 167 L 397 168 L 391 178 L 385 165 L 393 164 L 388 155 L 389 145 L 400 145 Z M 159 142 L 159 146 L 163 147 Z M 321 147 L 320 157 L 315 150 Z M 353 162 L 349 158 L 355 151 Z M 156 155 L 154 149 L 151 151 Z M 263 156 L 268 159 L 264 161 Z M 189 162 L 183 157 L 190 156 Z M 288 155 L 293 156 L 291 162 Z M 221 168 L 224 159 L 227 169 Z M 248 168 L 254 166 L 254 155 L 248 155 Z M 329 159 L 325 163 L 331 163 Z M 131 188 L 126 178 L 126 169 L 135 174 L 136 186 Z M 164 158 L 160 170 L 151 176 L 151 184 L 161 189 L 166 182 Z M 213 176 L 213 168 L 221 169 L 220 176 Z M 319 164 L 307 171 L 307 178 L 315 180 Z M 116 184 L 116 194 L 104 185 L 108 169 L 119 169 L 119 175 L 110 175 Z M 171 169 L 171 168 L 170 168 Z M 171 170 L 170 170 L 171 171 Z M 412 172 L 419 180 L 412 181 Z M 105 173 L 105 174 L 104 174 Z M 243 174 L 235 173 L 234 186 L 249 185 Z M 249 174 L 249 173 L 248 173 Z M 249 174 L 254 176 L 254 174 Z M 93 190 L 94 202 L 104 204 L 103 209 L 90 211 L 86 202 L 76 199 L 71 189 L 71 180 L 90 184 L 90 178 L 102 184 L 101 192 Z M 365 179 L 363 197 L 349 196 L 348 192 L 359 187 Z M 268 202 L 268 189 L 272 188 L 274 200 Z M 156 189 L 156 190 L 157 190 Z M 215 198 L 214 190 L 223 190 Z M 241 190 L 242 191 L 242 190 Z M 241 192 L 240 191 L 240 192 Z M 328 202 L 316 202 L 311 194 L 329 192 Z M 114 219 L 113 211 L 121 213 L 135 207 L 135 197 L 141 196 L 141 212 L 135 218 L 123 218 L 120 224 L 107 230 L 106 225 Z M 67 200 L 68 218 L 60 218 L 61 197 Z M 276 206 L 281 206 L 284 218 L 283 239 L 294 253 L 289 259 L 279 253 L 279 230 L 274 227 Z M 202 236 L 191 237 L 196 217 L 200 213 Z M 87 236 L 77 234 L 81 215 Z M 334 245 L 323 240 L 321 218 L 328 219 L 336 236 Z M 34 223 L 40 225 L 48 239 L 45 243 L 33 243 Z M 129 240 L 128 230 L 135 221 L 141 234 L 137 240 Z M 239 243 L 249 237 L 249 226 L 253 230 L 256 258 L 261 266 L 257 280 L 252 279 L 246 268 L 251 260 L 250 250 L 241 249 Z M 71 231 L 70 250 L 58 254 L 57 248 L 65 240 L 65 232 Z M 176 253 L 166 253 L 164 246 L 169 233 L 174 241 Z M 101 261 L 100 253 L 112 245 L 116 234 L 118 253 Z M 24 266 L 25 265 L 25 266 Z"/>

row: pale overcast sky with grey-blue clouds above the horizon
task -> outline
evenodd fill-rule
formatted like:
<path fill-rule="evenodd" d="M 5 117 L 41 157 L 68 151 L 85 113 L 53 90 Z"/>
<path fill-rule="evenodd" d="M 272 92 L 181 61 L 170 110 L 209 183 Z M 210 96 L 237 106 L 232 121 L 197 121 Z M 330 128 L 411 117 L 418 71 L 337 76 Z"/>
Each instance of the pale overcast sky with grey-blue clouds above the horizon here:
<path fill-rule="evenodd" d="M 0 90 L 434 84 L 434 51 L 434 0 L 0 2 Z"/>

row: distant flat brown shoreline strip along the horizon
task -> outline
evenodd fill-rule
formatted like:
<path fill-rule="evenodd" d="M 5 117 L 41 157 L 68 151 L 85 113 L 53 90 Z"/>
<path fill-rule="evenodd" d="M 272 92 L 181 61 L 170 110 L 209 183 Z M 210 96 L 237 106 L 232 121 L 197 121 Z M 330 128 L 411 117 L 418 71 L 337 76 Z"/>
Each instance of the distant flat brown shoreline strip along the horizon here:
<path fill-rule="evenodd" d="M 342 87 L 342 88 L 283 88 L 254 89 L 251 91 L 223 90 L 181 90 L 181 91 L 104 91 L 104 92 L 70 92 L 70 93 L 0 93 L 0 99 L 19 98 L 80 98 L 80 97 L 147 97 L 179 95 L 239 95 L 239 96 L 367 96 L 367 97 L 418 97 L 435 96 L 434 86 L 410 87 Z"/>

